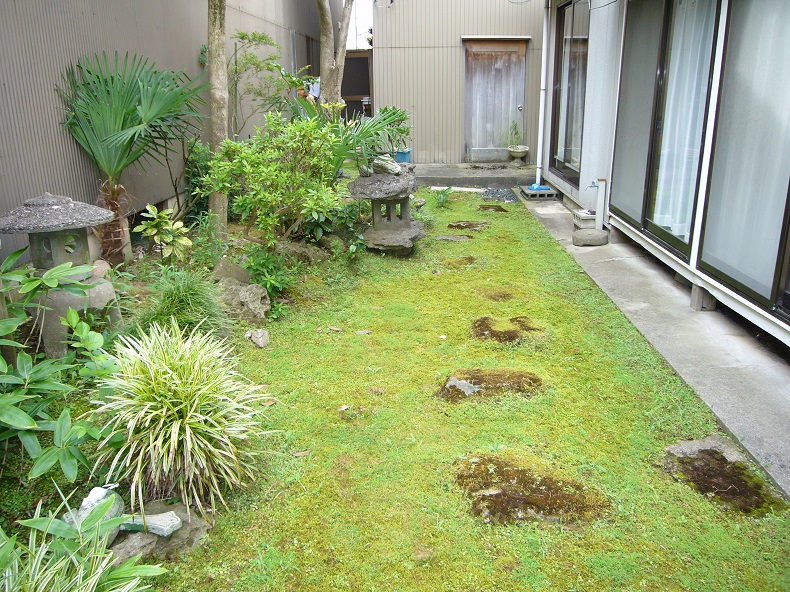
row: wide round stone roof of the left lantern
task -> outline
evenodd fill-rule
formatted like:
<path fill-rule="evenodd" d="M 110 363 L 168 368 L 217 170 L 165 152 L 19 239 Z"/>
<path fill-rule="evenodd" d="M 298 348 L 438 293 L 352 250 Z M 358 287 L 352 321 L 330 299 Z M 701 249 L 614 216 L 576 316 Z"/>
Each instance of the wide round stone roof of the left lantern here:
<path fill-rule="evenodd" d="M 48 233 L 106 224 L 115 217 L 110 210 L 45 193 L 26 199 L 24 205 L 0 217 L 0 234 Z"/>

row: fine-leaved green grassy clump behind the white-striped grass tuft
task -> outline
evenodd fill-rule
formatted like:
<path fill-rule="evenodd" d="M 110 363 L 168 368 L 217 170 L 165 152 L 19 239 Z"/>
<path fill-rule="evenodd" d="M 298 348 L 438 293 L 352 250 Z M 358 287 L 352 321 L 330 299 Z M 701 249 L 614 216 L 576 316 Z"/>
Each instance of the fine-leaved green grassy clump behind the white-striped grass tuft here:
<path fill-rule="evenodd" d="M 219 286 L 208 270 L 175 270 L 162 268 L 162 276 L 151 286 L 153 294 L 148 305 L 137 315 L 137 324 L 145 331 L 154 323 L 165 325 L 170 318 L 179 327 L 191 330 L 198 325 L 203 331 L 225 335 L 230 320 L 220 303 Z"/>

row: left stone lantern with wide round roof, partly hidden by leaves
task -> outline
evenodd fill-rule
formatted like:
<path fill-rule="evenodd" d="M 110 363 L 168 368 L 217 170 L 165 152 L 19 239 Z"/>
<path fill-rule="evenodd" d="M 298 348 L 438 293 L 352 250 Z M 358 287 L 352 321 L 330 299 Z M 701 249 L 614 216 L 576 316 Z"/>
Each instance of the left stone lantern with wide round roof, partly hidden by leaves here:
<path fill-rule="evenodd" d="M 115 215 L 110 210 L 72 200 L 70 197 L 45 193 L 25 200 L 24 205 L 0 217 L 0 234 L 27 233 L 33 265 L 46 271 L 63 263 L 76 265 L 93 263 L 88 247 L 88 228 L 110 222 Z M 65 291 L 50 293 L 42 304 L 46 310 L 41 323 L 42 341 L 49 358 L 66 355 L 66 328 L 60 317 L 69 308 L 104 309 L 110 306 L 110 320 L 117 322 L 121 315 L 115 303 L 115 289 L 107 280 L 73 276 L 91 285 L 85 296 Z"/>

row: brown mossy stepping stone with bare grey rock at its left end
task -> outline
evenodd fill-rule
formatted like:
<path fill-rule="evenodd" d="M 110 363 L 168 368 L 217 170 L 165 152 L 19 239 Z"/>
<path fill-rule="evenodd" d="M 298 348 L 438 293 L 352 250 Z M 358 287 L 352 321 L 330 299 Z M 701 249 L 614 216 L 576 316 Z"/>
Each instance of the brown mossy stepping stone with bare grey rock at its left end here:
<path fill-rule="evenodd" d="M 529 396 L 534 395 L 542 383 L 540 376 L 524 370 L 464 368 L 453 372 L 436 394 L 451 403 L 508 392 Z"/>

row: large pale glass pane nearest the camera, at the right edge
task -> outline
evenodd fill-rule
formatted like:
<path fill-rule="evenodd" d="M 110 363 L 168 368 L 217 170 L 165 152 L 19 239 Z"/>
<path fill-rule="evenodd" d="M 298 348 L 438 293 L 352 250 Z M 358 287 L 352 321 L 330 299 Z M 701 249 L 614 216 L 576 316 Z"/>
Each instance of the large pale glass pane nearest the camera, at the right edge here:
<path fill-rule="evenodd" d="M 730 10 L 700 266 L 768 304 L 790 183 L 790 2 Z"/>

